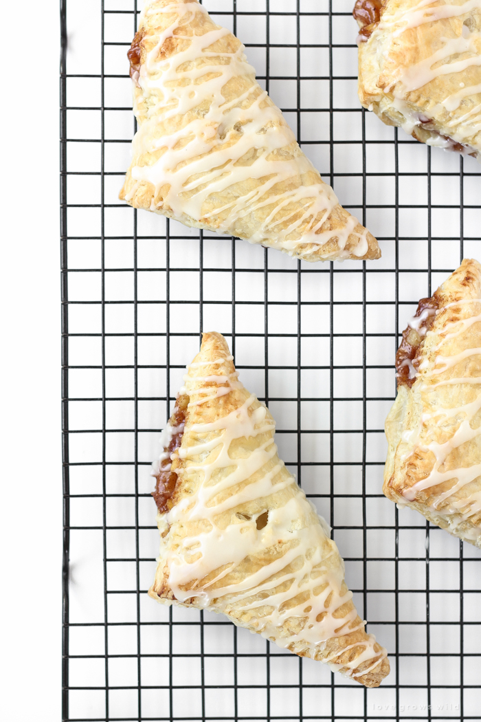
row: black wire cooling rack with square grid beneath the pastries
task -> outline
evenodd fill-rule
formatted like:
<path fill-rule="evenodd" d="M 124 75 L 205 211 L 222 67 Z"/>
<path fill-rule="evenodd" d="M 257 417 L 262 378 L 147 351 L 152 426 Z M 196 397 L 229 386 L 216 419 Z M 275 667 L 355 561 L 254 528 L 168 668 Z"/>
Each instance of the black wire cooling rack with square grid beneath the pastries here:
<path fill-rule="evenodd" d="M 61 1 L 63 720 L 479 718 L 480 554 L 381 495 L 400 331 L 464 255 L 481 257 L 479 166 L 360 108 L 349 0 L 205 4 L 383 258 L 309 265 L 120 204 L 138 4 Z M 146 597 L 150 463 L 202 329 L 231 343 L 332 525 L 389 651 L 378 690 Z"/>

